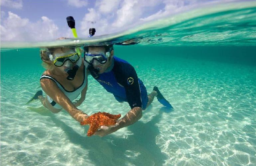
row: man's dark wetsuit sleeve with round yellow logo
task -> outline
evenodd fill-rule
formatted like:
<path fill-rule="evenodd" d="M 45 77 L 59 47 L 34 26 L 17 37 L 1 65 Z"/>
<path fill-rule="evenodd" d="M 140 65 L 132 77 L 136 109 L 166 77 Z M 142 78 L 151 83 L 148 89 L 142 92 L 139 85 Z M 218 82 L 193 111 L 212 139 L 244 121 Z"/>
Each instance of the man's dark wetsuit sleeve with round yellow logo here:
<path fill-rule="evenodd" d="M 142 107 L 138 76 L 133 66 L 129 63 L 118 62 L 115 63 L 113 70 L 115 70 L 117 82 L 125 88 L 127 102 L 131 109 Z"/>

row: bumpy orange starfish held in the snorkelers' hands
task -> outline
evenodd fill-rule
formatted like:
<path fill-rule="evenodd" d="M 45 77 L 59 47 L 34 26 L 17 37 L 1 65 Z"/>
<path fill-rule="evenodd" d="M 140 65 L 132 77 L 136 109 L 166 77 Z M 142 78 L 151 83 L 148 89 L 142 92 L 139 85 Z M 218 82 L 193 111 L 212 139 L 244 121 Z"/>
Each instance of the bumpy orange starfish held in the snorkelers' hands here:
<path fill-rule="evenodd" d="M 121 117 L 121 114 L 112 115 L 106 112 L 98 112 L 92 114 L 86 120 L 81 122 L 81 125 L 89 124 L 90 127 L 87 131 L 87 135 L 91 136 L 98 130 L 98 128 L 102 125 L 114 125 L 116 124 L 116 120 Z"/>

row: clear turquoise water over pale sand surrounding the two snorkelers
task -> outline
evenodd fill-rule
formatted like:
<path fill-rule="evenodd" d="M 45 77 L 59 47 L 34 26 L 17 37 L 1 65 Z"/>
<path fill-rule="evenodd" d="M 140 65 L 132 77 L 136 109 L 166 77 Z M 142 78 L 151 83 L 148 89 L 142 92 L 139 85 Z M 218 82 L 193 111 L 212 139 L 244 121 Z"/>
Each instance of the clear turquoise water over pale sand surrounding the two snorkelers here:
<path fill-rule="evenodd" d="M 200 16 L 195 9 L 193 18 L 178 15 L 187 16 L 182 22 L 163 18 L 162 26 L 103 40 L 116 43 L 115 56 L 134 66 L 148 93 L 158 86 L 174 107 L 155 99 L 138 122 L 105 137 L 87 137 L 88 126 L 65 111 L 26 105 L 41 89 L 42 43 L 3 46 L 1 165 L 256 165 L 256 4 L 221 9 Z M 78 108 L 89 115 L 130 110 L 91 76 Z"/>

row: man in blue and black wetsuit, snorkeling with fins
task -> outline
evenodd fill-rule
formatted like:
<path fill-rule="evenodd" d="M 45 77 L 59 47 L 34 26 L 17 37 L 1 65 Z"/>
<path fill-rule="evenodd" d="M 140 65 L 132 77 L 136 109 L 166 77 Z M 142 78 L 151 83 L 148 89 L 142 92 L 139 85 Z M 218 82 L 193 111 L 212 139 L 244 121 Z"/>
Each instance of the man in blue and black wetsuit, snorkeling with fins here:
<path fill-rule="evenodd" d="M 138 78 L 133 66 L 114 56 L 113 45 L 84 47 L 84 61 L 90 74 L 112 93 L 118 102 L 128 102 L 131 107 L 117 126 L 96 131 L 95 135 L 104 136 L 137 122 L 142 117 L 142 110 L 152 103 L 155 96 L 161 104 L 173 109 L 158 87 L 154 87 L 153 91 L 147 94 L 146 87 Z"/>

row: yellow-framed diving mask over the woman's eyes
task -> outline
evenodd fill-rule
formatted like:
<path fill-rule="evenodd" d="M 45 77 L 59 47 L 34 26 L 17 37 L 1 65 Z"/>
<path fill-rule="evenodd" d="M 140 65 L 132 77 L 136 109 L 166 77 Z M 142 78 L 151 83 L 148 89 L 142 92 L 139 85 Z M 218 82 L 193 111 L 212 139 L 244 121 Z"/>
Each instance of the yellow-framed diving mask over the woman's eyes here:
<path fill-rule="evenodd" d="M 49 58 L 51 61 L 53 61 L 54 65 L 57 67 L 61 67 L 64 65 L 64 63 L 69 60 L 72 63 L 77 62 L 77 60 L 80 58 L 78 53 L 74 51 L 68 51 L 65 53 L 56 53 L 56 54 L 50 54 Z"/>

